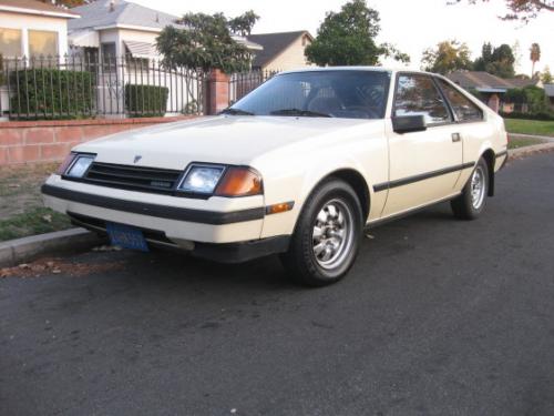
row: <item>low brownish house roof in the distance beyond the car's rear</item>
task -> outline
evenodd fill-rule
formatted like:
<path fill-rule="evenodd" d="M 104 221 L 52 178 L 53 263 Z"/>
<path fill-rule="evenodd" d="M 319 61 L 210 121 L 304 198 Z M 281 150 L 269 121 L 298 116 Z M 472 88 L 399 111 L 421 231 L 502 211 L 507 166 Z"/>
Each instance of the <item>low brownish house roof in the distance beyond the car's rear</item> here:
<path fill-rule="evenodd" d="M 536 80 L 521 78 L 502 79 L 484 71 L 454 71 L 447 75 L 462 88 L 473 88 L 483 92 L 505 92 L 513 88 L 536 85 Z"/>

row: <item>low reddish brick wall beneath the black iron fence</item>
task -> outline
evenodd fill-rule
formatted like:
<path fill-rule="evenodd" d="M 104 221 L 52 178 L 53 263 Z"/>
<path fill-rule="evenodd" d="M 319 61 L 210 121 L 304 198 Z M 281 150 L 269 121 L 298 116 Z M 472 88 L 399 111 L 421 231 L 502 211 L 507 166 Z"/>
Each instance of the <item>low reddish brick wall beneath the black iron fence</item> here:
<path fill-rule="evenodd" d="M 61 161 L 71 148 L 89 140 L 192 118 L 0 122 L 0 166 Z"/>

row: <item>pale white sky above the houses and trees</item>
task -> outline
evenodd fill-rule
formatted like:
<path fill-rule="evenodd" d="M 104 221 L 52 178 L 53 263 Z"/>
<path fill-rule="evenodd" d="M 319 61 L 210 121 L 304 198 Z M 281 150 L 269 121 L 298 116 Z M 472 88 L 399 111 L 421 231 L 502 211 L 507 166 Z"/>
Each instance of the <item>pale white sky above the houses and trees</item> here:
<path fill-rule="evenodd" d="M 285 32 L 306 29 L 314 35 L 329 10 L 338 11 L 347 0 L 131 0 L 133 2 L 182 16 L 192 12 L 224 12 L 228 17 L 254 10 L 260 19 L 253 33 Z M 483 42 L 493 45 L 519 42 L 516 72 L 531 74 L 530 47 L 541 45 L 541 61 L 535 71 L 548 65 L 554 72 L 554 12 L 542 14 L 524 24 L 502 21 L 506 9 L 503 0 L 490 0 L 478 6 L 449 6 L 449 0 L 368 0 L 381 18 L 378 42 L 396 44 L 411 57 L 410 68 L 419 69 L 424 49 L 448 39 L 465 42 L 472 57 L 481 54 Z M 383 62 L 398 67 L 393 61 Z"/>

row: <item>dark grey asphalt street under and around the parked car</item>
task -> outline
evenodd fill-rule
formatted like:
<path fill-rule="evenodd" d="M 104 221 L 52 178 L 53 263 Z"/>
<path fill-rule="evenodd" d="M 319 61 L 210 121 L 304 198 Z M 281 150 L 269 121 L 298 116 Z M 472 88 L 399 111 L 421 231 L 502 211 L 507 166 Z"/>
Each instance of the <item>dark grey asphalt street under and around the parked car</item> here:
<path fill-rule="evenodd" d="M 319 290 L 168 252 L 2 278 L 0 415 L 554 415 L 554 153 L 496 191 L 375 229 Z"/>

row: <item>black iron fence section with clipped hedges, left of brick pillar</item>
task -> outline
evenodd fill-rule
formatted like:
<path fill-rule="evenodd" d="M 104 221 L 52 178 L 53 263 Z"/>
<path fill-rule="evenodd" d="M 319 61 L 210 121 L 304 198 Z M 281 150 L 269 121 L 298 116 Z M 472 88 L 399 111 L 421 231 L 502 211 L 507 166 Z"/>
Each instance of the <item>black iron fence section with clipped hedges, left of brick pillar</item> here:
<path fill-rule="evenodd" d="M 206 77 L 155 59 L 3 59 L 0 112 L 11 120 L 202 114 Z"/>

